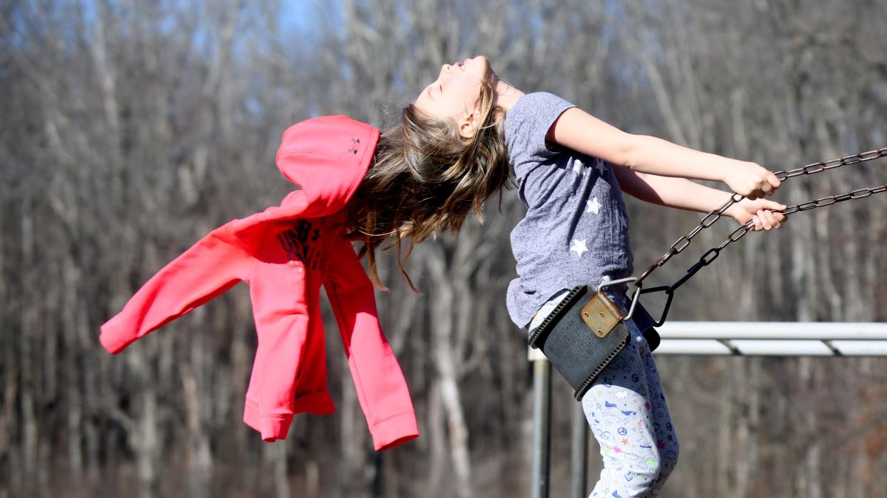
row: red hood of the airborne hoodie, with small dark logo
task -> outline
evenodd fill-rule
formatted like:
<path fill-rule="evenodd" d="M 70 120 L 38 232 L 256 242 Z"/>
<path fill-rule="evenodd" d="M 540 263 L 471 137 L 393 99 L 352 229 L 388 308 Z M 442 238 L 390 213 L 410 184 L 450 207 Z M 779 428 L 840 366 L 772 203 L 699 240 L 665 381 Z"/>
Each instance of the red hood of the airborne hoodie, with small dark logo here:
<path fill-rule="evenodd" d="M 283 176 L 302 187 L 310 217 L 345 207 L 364 179 L 379 130 L 345 115 L 295 123 L 283 133 L 277 165 Z"/>

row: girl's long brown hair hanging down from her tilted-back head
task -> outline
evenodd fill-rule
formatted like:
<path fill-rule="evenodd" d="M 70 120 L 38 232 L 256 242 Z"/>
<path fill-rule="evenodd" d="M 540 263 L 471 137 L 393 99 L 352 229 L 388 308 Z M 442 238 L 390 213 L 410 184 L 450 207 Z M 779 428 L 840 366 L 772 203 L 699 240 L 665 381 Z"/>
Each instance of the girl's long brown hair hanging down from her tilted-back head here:
<path fill-rule="evenodd" d="M 503 136 L 504 109 L 495 102 L 488 66 L 481 83 L 480 116 L 471 138 L 459 135 L 453 120 L 422 115 L 404 107 L 401 123 L 381 133 L 366 176 L 349 202 L 349 238 L 364 242 L 370 276 L 381 289 L 375 250 L 397 249 L 404 270 L 413 247 L 428 235 L 459 233 L 471 209 L 483 222 L 483 203 L 508 185 Z M 500 198 L 501 202 L 501 198 Z M 404 241 L 406 248 L 404 249 Z"/>

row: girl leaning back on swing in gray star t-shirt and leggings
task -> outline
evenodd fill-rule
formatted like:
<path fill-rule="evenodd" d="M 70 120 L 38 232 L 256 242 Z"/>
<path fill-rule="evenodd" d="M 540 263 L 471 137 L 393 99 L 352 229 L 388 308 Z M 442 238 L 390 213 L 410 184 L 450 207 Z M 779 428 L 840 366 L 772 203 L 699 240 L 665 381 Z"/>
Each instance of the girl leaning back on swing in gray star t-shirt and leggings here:
<path fill-rule="evenodd" d="M 500 80 L 478 56 L 444 64 L 404 109 L 406 154 L 424 170 L 473 164 L 497 175 L 510 164 L 526 216 L 511 233 L 518 277 L 506 295 L 514 324 L 528 334 L 563 296 L 632 274 L 622 191 L 645 202 L 709 212 L 730 193 L 688 178 L 718 180 L 746 197 L 725 214 L 753 230 L 779 228 L 786 206 L 763 199 L 780 181 L 769 170 L 704 154 L 603 123 L 551 93 L 525 94 Z M 487 144 L 484 154 L 468 142 Z M 462 152 L 459 152 L 459 151 Z M 625 286 L 605 290 L 627 311 Z M 604 468 L 593 497 L 654 496 L 678 459 L 678 438 L 641 331 L 582 397 Z"/>

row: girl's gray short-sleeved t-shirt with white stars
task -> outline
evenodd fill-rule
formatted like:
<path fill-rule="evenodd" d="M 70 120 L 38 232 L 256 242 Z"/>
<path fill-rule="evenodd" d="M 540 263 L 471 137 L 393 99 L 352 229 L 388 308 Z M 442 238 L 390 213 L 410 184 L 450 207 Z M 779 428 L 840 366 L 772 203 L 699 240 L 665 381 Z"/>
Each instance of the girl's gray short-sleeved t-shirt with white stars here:
<path fill-rule="evenodd" d="M 546 133 L 569 107 L 575 106 L 551 93 L 529 93 L 505 118 L 508 158 L 527 206 L 511 232 L 518 277 L 506 298 L 518 327 L 527 327 L 561 289 L 596 287 L 632 274 L 628 215 L 613 166 L 568 147 L 546 146 Z"/>

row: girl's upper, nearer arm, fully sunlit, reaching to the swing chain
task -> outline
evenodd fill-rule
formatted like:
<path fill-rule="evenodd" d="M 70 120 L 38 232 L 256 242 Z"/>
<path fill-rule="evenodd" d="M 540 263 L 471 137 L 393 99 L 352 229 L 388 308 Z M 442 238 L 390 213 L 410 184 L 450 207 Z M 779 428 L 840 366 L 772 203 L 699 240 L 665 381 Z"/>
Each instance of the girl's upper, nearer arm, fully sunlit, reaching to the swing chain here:
<path fill-rule="evenodd" d="M 749 199 L 773 194 L 780 186 L 772 172 L 754 162 L 699 152 L 661 138 L 625 133 L 578 107 L 564 111 L 553 123 L 547 138 L 639 173 L 721 181 Z"/>

